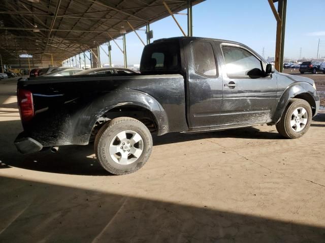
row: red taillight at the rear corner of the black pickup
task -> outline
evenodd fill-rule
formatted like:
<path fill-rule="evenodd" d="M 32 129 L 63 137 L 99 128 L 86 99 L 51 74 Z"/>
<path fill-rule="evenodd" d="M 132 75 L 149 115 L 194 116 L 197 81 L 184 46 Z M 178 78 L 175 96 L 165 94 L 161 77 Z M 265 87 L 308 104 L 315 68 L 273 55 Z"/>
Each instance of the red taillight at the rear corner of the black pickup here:
<path fill-rule="evenodd" d="M 20 90 L 17 92 L 18 108 L 22 121 L 28 121 L 34 116 L 34 104 L 32 94 L 28 90 Z"/>

